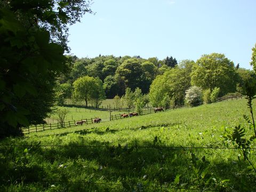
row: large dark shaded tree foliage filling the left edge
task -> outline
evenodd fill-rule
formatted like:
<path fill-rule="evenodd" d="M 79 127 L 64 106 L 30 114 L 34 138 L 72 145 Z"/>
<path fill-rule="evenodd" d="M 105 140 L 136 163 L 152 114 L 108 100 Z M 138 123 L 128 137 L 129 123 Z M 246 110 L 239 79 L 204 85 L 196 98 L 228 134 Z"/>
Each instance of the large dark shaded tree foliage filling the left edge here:
<path fill-rule="evenodd" d="M 42 123 L 54 102 L 55 77 L 69 66 L 67 26 L 84 12 L 85 1 L 0 2 L 0 138 Z M 58 11 L 57 11 L 58 10 Z M 55 43 L 54 43 L 55 42 Z"/>

